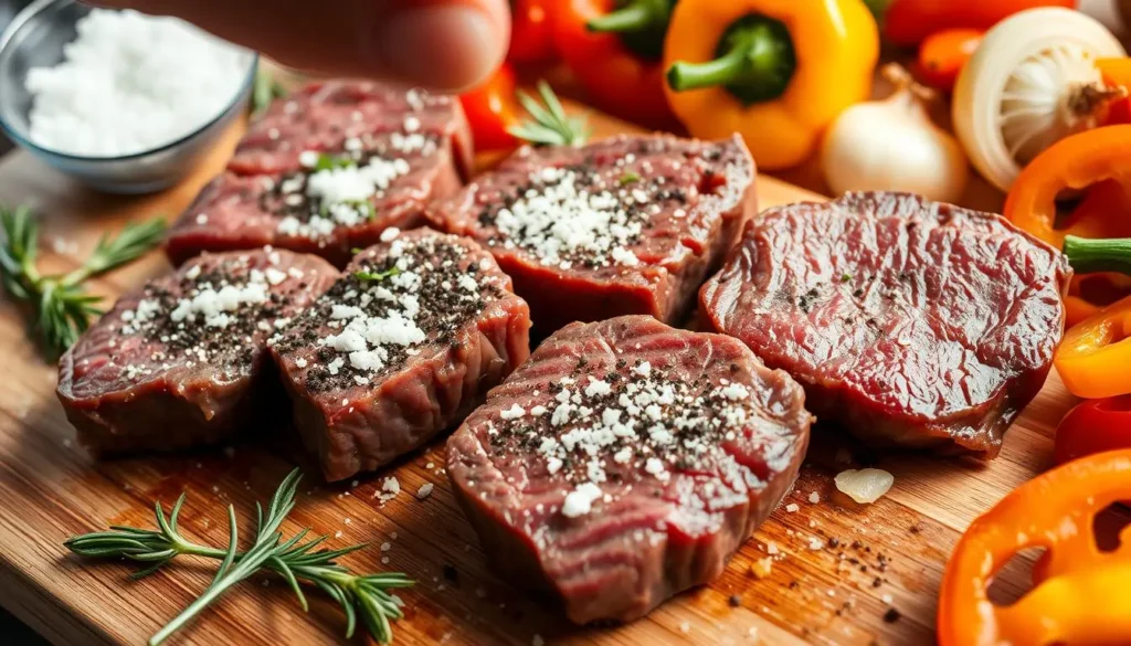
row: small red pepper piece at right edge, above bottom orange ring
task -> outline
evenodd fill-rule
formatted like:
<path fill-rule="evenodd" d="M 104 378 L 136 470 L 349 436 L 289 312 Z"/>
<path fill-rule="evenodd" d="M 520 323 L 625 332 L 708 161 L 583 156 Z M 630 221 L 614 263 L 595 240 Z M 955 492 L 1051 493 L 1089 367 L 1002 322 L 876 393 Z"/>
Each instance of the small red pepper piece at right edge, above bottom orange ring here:
<path fill-rule="evenodd" d="M 1131 395 L 1089 399 L 1072 408 L 1056 427 L 1053 460 L 1131 449 Z"/>

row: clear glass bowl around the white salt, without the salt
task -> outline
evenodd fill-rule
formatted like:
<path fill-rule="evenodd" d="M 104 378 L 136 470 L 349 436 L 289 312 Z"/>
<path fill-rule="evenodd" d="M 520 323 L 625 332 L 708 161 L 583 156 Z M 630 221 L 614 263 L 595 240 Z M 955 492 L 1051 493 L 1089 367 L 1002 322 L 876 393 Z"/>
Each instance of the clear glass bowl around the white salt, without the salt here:
<path fill-rule="evenodd" d="M 248 109 L 259 57 L 248 52 L 248 76 L 232 102 L 211 121 L 158 148 L 118 157 L 86 157 L 43 148 L 31 140 L 29 69 L 63 60 L 63 45 L 89 7 L 75 0 L 36 0 L 0 34 L 0 128 L 25 150 L 87 186 L 111 193 L 156 192 L 175 184 L 201 162 L 227 127 Z"/>

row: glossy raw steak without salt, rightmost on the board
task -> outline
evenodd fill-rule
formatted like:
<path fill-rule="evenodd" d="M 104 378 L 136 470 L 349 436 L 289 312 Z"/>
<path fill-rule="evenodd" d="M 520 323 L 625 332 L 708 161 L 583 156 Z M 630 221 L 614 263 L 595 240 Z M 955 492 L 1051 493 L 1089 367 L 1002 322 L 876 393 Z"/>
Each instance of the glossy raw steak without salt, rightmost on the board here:
<path fill-rule="evenodd" d="M 849 193 L 759 215 L 700 312 L 801 381 L 818 417 L 993 457 L 1048 373 L 1070 276 L 999 216 Z"/>

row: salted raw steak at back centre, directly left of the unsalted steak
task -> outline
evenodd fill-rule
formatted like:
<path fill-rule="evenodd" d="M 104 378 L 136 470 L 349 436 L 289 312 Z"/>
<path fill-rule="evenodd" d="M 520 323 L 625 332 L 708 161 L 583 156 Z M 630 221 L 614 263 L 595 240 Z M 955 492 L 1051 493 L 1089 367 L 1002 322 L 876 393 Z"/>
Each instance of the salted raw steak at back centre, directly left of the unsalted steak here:
<path fill-rule="evenodd" d="M 677 321 L 756 210 L 737 137 L 618 137 L 523 148 L 430 214 L 486 246 L 535 326 L 647 313 Z"/>

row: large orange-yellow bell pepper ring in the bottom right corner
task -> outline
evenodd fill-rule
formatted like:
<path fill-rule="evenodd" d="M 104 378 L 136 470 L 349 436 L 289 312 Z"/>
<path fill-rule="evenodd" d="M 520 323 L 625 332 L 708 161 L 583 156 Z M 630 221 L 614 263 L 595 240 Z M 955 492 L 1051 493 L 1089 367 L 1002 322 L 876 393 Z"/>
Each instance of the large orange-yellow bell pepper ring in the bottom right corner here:
<path fill-rule="evenodd" d="M 1131 527 L 1113 552 L 1096 545 L 1093 522 L 1131 498 L 1131 450 L 1070 462 L 1022 484 L 970 524 L 947 563 L 939 598 L 940 646 L 1126 644 L 1131 635 Z M 990 600 L 1009 560 L 1047 551 L 1035 587 L 1016 603 Z"/>

